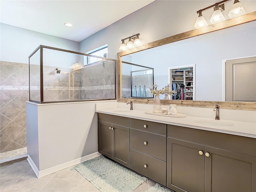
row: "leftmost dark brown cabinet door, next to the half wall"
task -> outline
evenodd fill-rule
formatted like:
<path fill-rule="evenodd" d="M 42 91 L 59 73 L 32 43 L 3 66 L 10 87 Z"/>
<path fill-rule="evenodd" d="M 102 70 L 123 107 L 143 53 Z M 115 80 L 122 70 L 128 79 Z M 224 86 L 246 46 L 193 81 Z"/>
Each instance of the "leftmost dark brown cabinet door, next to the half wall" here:
<path fill-rule="evenodd" d="M 111 130 L 112 125 L 110 123 L 98 121 L 98 151 L 112 158 L 112 135 L 113 131 Z"/>

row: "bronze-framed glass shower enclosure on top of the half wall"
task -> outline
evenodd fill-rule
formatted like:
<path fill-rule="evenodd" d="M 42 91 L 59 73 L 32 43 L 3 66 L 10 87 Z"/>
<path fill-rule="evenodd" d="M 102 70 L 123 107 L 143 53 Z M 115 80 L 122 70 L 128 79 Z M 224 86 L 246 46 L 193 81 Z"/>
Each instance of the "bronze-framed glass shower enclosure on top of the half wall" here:
<path fill-rule="evenodd" d="M 39 57 L 37 52 L 41 52 Z M 39 97 L 31 92 L 30 101 L 48 103 L 116 98 L 116 60 L 46 46 L 39 46 L 37 52 L 30 55 L 29 60 L 30 64 L 34 60 L 41 62 L 37 77 L 42 82 L 34 88 Z M 96 57 L 98 61 L 83 66 L 84 59 L 90 57 Z M 32 85 L 30 82 L 31 91 Z"/>

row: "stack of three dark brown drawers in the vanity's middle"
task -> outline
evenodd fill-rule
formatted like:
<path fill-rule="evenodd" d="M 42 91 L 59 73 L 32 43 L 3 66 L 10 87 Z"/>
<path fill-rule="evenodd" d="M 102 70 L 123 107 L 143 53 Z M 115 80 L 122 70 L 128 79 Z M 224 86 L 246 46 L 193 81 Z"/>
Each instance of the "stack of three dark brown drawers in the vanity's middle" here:
<path fill-rule="evenodd" d="M 166 124 L 130 119 L 130 168 L 164 186 L 166 135 Z"/>

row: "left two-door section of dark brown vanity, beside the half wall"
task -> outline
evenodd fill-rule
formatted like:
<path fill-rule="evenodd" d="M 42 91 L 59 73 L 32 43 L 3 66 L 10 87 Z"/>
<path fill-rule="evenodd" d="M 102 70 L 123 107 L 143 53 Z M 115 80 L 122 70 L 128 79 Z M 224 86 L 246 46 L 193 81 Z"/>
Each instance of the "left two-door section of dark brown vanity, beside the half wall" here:
<path fill-rule="evenodd" d="M 130 168 L 130 118 L 98 113 L 98 151 Z"/>

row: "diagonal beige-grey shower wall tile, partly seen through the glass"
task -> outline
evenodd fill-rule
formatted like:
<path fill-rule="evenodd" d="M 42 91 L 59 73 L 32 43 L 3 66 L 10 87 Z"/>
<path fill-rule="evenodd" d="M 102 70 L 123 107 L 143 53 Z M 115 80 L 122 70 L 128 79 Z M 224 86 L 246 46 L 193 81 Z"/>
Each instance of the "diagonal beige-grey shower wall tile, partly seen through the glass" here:
<path fill-rule="evenodd" d="M 105 62 L 72 72 L 44 66 L 44 101 L 115 98 L 115 64 Z M 40 101 L 40 72 L 30 65 L 31 97 Z M 26 147 L 28 64 L 0 62 L 0 153 Z"/>

